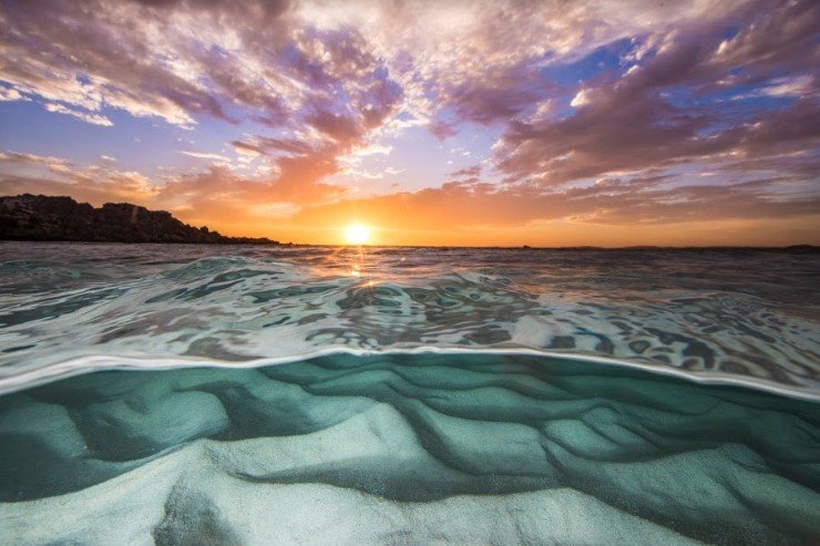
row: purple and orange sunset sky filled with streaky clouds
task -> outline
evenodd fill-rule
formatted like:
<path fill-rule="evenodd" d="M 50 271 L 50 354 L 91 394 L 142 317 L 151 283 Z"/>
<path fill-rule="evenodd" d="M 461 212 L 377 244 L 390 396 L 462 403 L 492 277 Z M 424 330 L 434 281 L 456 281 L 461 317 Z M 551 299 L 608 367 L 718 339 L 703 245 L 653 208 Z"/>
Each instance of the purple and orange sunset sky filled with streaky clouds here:
<path fill-rule="evenodd" d="M 0 195 L 344 244 L 820 244 L 820 2 L 0 1 Z"/>

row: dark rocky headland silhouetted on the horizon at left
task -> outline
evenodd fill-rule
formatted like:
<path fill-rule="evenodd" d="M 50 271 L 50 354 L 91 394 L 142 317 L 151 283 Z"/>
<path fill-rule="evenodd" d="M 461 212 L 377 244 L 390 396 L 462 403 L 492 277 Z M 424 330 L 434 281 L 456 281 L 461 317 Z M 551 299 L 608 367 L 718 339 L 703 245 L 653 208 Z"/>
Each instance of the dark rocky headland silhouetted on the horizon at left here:
<path fill-rule="evenodd" d="M 71 197 L 23 194 L 0 197 L 0 239 L 98 243 L 201 243 L 278 245 L 266 237 L 227 237 L 196 228 L 165 210 L 130 203 L 94 208 Z"/>

